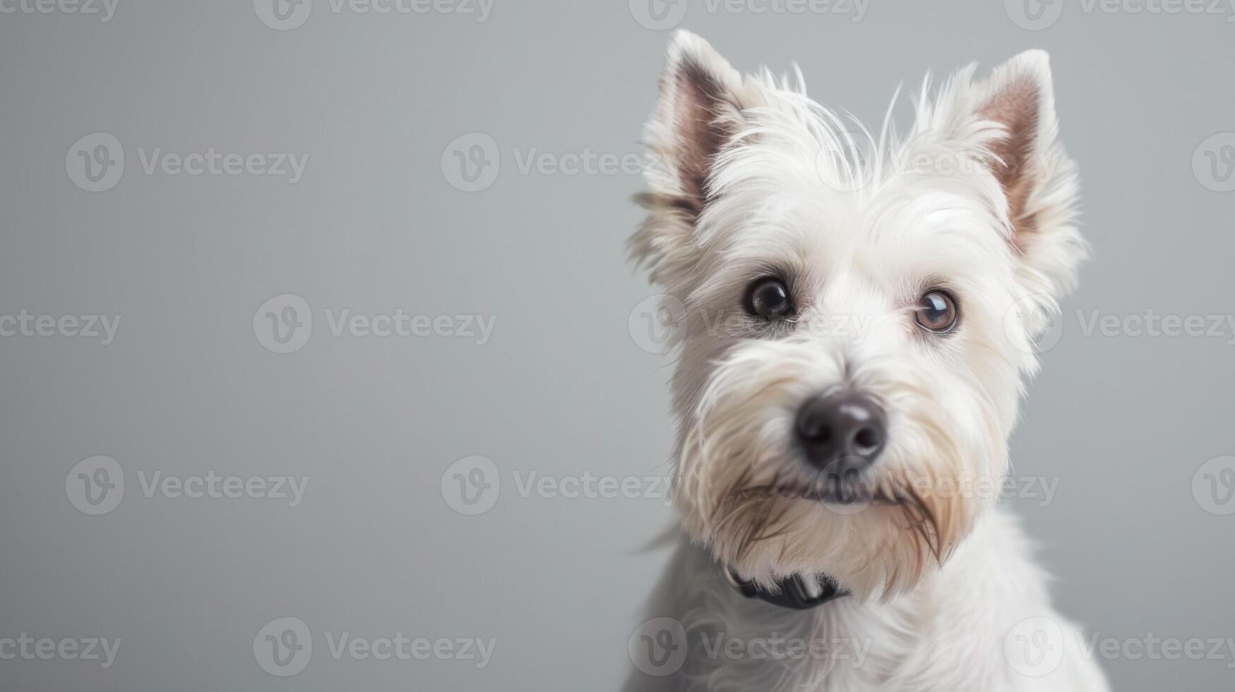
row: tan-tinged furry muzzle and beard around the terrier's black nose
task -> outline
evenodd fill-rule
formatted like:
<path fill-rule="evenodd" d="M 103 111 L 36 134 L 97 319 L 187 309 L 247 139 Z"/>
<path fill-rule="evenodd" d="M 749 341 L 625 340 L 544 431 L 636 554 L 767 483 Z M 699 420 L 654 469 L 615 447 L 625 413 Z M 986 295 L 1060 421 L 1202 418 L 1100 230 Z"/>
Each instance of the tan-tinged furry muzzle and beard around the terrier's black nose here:
<path fill-rule="evenodd" d="M 792 339 L 746 345 L 716 365 L 683 421 L 674 498 L 688 531 L 745 578 L 774 588 L 783 576 L 826 573 L 860 598 L 888 598 L 941 565 L 989 504 L 960 488 L 966 476 L 998 482 L 1002 445 L 963 440 L 992 440 L 999 426 L 966 398 L 941 400 L 935 383 L 881 377 L 902 371 L 867 360 L 845 379 L 893 411 L 890 444 L 877 468 L 841 488 L 847 502 L 835 502 L 835 478 L 804 463 L 790 437 L 795 408 L 844 368 Z"/>

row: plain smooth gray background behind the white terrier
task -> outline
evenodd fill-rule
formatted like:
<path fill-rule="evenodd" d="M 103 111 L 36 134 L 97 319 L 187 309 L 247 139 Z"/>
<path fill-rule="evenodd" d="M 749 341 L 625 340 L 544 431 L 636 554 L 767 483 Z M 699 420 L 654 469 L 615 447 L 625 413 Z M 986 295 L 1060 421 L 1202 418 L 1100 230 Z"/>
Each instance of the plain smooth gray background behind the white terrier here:
<path fill-rule="evenodd" d="M 291 31 L 264 26 L 251 0 L 120 0 L 109 22 L 0 15 L 0 314 L 122 316 L 109 346 L 0 337 L 0 638 L 122 639 L 109 670 L 0 661 L 5 690 L 538 692 L 615 688 L 630 667 L 626 640 L 666 557 L 641 549 L 669 510 L 659 498 L 521 497 L 513 475 L 667 471 L 671 360 L 629 326 L 653 293 L 624 262 L 640 180 L 525 174 L 514 151 L 640 152 L 668 32 L 625 1 L 496 0 L 484 22 L 316 5 Z M 855 22 L 692 0 L 680 22 L 741 69 L 798 61 L 818 100 L 866 121 L 926 69 L 1051 52 L 1097 252 L 1014 439 L 1018 475 L 1058 478 L 1058 491 L 1047 507 L 1010 502 L 1042 542 L 1062 610 L 1121 641 L 1235 638 L 1235 515 L 1223 514 L 1235 507 L 1194 492 L 1207 460 L 1235 454 L 1235 334 L 1087 336 L 1076 318 L 1233 311 L 1235 193 L 1192 166 L 1203 141 L 1235 131 L 1224 10 L 1068 4 L 1032 31 L 989 1 L 872 0 Z M 65 153 L 100 131 L 127 164 L 115 188 L 86 193 Z M 469 132 L 501 158 L 475 193 L 441 163 Z M 298 184 L 147 175 L 137 150 L 154 147 L 310 162 Z M 277 355 L 252 320 L 285 293 L 311 305 L 314 332 Z M 326 309 L 496 324 L 484 345 L 336 337 Z M 100 517 L 65 491 L 94 455 L 117 460 L 127 484 Z M 503 483 L 475 517 L 441 491 L 471 455 Z M 138 471 L 310 484 L 298 507 L 146 498 Z M 253 639 L 288 615 L 315 650 L 279 678 Z M 479 670 L 335 660 L 325 631 L 496 649 Z M 1235 680 L 1229 652 L 1102 665 L 1125 691 Z"/>

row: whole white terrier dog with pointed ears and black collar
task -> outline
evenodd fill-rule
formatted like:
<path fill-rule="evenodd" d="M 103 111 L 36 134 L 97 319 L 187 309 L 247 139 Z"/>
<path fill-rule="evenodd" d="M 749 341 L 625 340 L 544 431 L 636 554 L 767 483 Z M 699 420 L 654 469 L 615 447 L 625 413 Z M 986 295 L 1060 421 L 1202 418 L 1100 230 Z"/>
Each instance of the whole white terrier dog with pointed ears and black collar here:
<path fill-rule="evenodd" d="M 1047 56 L 929 91 L 876 136 L 674 36 L 631 245 L 674 319 L 684 531 L 627 690 L 1108 690 L 993 508 L 1086 256 Z"/>

